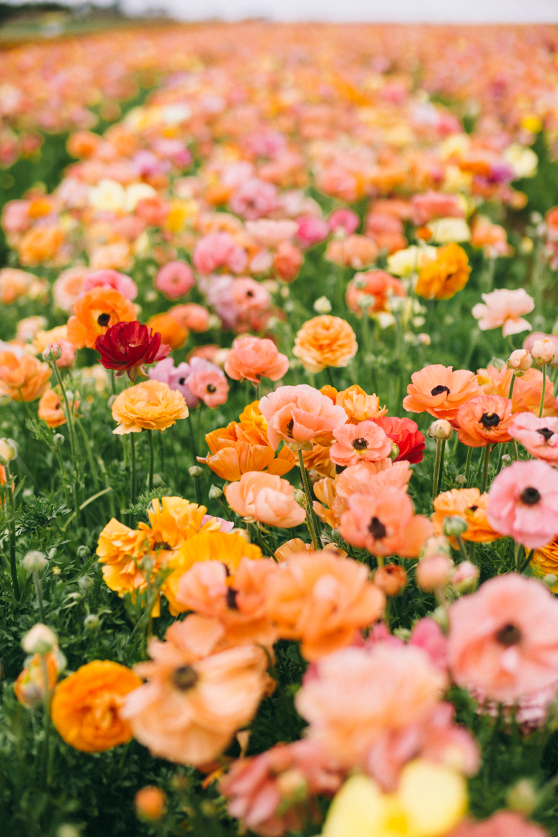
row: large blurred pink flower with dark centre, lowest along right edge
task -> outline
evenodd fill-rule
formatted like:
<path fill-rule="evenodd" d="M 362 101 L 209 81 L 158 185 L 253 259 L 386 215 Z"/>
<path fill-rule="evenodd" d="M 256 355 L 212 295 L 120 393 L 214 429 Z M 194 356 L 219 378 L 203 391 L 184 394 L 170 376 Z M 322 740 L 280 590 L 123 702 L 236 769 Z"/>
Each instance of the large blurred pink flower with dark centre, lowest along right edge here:
<path fill-rule="evenodd" d="M 556 681 L 558 602 L 540 581 L 490 578 L 449 609 L 449 665 L 458 686 L 517 701 Z"/>

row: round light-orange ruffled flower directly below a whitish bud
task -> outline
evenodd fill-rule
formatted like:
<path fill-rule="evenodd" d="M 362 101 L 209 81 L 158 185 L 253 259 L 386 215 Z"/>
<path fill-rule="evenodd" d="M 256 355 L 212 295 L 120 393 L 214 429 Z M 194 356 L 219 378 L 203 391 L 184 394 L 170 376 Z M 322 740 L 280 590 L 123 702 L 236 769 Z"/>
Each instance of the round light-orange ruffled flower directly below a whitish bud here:
<path fill-rule="evenodd" d="M 349 323 L 324 314 L 312 317 L 298 331 L 293 354 L 309 372 L 321 372 L 325 367 L 346 367 L 357 349 Z"/>

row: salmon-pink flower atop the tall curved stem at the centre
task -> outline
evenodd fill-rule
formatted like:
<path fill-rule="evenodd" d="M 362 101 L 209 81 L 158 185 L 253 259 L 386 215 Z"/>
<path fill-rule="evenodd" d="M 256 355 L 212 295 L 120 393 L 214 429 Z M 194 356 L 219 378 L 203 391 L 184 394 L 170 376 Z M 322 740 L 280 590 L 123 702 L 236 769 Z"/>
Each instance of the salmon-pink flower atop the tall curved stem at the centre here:
<path fill-rule="evenodd" d="M 346 424 L 347 414 L 330 398 L 306 383 L 279 387 L 259 402 L 268 422 L 269 444 L 276 450 L 281 439 L 289 444 L 330 438 L 333 431 Z"/>

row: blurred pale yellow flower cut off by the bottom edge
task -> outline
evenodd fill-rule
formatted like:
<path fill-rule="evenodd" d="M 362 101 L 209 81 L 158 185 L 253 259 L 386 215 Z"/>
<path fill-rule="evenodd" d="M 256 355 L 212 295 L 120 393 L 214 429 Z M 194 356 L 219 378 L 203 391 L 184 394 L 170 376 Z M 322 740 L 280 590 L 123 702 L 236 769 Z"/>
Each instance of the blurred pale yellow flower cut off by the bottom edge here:
<path fill-rule="evenodd" d="M 417 758 L 404 768 L 396 793 L 384 793 L 367 776 L 347 779 L 322 837 L 440 837 L 458 824 L 466 806 L 459 773 Z"/>

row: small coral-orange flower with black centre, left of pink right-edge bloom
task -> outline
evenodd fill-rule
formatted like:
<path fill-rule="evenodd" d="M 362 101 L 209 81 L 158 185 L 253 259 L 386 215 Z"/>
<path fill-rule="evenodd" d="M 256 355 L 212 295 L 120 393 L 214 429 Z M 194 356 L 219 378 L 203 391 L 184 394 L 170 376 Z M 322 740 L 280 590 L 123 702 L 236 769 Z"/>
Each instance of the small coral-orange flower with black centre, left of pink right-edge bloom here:
<path fill-rule="evenodd" d="M 459 441 L 470 448 L 484 448 L 487 444 L 509 442 L 512 423 L 512 403 L 501 395 L 476 395 L 461 405 L 455 422 Z"/>

